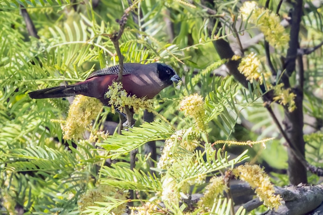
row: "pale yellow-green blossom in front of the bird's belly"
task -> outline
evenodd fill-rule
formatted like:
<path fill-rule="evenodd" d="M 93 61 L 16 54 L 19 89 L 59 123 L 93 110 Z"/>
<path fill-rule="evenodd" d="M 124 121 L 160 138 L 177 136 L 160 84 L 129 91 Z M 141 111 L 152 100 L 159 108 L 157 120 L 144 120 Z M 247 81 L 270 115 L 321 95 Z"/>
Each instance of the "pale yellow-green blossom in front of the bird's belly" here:
<path fill-rule="evenodd" d="M 138 98 L 136 95 L 128 96 L 127 92 L 122 89 L 122 83 L 120 82 L 113 82 L 108 87 L 106 96 L 110 99 L 109 104 L 112 107 L 112 112 L 114 111 L 114 107 L 117 107 L 117 109 L 122 112 L 126 105 L 128 105 L 130 108 L 132 107 L 135 112 L 137 112 L 140 108 L 148 110 L 153 109 L 151 100 Z"/>

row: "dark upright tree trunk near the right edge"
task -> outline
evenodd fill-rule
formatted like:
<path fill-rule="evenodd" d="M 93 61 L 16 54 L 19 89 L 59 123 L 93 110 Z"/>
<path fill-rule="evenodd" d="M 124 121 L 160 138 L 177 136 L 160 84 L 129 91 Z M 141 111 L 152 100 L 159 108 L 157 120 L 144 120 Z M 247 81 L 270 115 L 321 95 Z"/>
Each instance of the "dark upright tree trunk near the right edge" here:
<path fill-rule="evenodd" d="M 303 13 L 303 0 L 297 0 L 295 2 L 294 10 L 291 17 L 291 28 L 290 28 L 290 41 L 289 48 L 287 50 L 287 61 L 286 61 L 286 74 L 290 76 L 296 68 L 297 49 L 299 48 L 298 34 L 300 29 L 300 22 Z M 298 64 L 298 70 L 301 71 L 301 75 L 298 76 L 298 83 L 303 83 L 304 70 L 302 64 Z M 283 79 L 285 87 L 290 87 L 288 77 Z M 288 112 L 285 110 L 285 133 L 287 138 L 293 144 L 294 149 L 297 149 L 305 157 L 305 142 L 303 138 L 303 84 L 299 84 L 297 88 L 294 88 L 294 93 L 297 95 L 295 98 L 296 110 Z M 297 159 L 295 153 L 289 147 L 288 152 L 288 176 L 289 181 L 293 185 L 299 183 L 307 183 L 307 171 L 306 167 Z"/>

